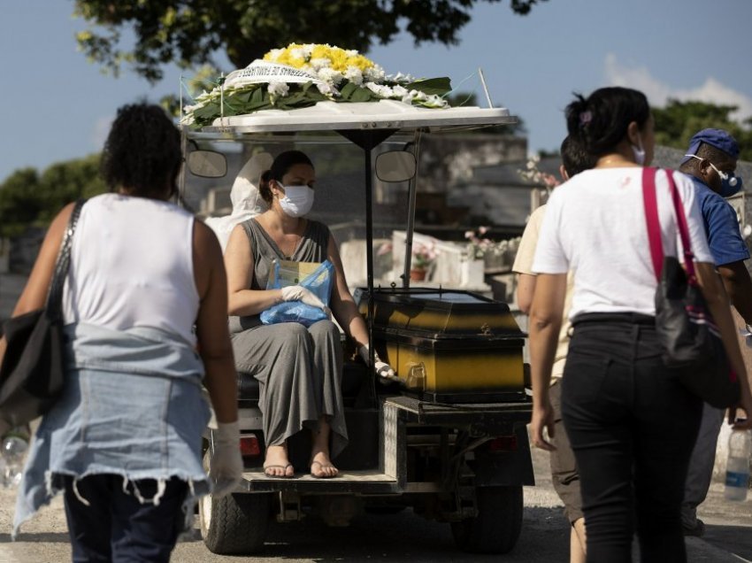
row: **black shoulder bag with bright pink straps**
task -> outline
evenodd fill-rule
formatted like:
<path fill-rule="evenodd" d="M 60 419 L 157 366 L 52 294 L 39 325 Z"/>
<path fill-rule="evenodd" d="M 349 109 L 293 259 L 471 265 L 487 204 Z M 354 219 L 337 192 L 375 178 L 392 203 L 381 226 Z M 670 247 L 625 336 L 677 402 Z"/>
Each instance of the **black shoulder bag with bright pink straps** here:
<path fill-rule="evenodd" d="M 678 368 L 679 381 L 706 403 L 717 408 L 733 406 L 740 399 L 739 378 L 729 366 L 720 333 L 694 274 L 687 217 L 673 181 L 673 172 L 666 170 L 665 173 L 684 250 L 684 268 L 679 258 L 664 257 L 656 198 L 656 168 L 642 171 L 650 256 L 658 280 L 656 330 L 664 347 L 664 363 Z"/>

